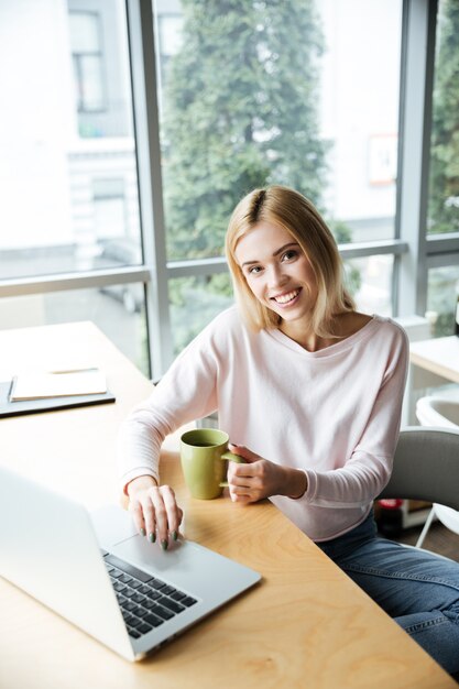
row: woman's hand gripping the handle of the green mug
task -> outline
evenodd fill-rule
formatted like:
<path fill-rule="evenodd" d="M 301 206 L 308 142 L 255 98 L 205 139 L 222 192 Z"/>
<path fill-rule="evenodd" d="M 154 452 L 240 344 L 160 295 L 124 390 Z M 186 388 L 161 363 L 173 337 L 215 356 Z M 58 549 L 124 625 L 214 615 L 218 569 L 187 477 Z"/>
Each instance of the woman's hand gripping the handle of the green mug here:
<path fill-rule="evenodd" d="M 245 460 L 245 463 L 228 462 L 228 484 L 233 502 L 258 502 L 271 495 L 300 497 L 305 492 L 307 480 L 303 471 L 275 464 L 240 445 L 230 445 L 229 449 Z"/>

